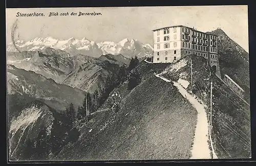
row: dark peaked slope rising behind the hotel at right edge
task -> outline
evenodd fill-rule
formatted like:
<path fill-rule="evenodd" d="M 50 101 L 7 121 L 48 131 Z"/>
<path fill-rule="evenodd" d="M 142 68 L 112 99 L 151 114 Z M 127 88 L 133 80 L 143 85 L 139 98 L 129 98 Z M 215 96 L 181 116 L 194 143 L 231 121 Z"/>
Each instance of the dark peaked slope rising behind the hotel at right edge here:
<path fill-rule="evenodd" d="M 245 98 L 249 102 L 249 54 L 221 29 L 208 33 L 218 35 L 218 53 L 222 75 L 227 74 L 236 81 L 246 91 Z"/>

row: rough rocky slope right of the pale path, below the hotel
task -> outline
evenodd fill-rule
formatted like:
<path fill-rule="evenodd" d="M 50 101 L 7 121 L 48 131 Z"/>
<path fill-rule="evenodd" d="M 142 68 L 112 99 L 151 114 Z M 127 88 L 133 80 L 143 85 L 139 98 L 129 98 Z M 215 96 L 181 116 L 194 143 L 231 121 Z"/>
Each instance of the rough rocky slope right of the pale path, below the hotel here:
<path fill-rule="evenodd" d="M 190 84 L 190 58 L 193 63 L 193 86 Z M 178 72 L 177 72 L 177 69 Z M 166 78 L 186 83 L 193 93 L 210 109 L 210 79 L 212 80 L 213 132 L 212 137 L 218 158 L 248 158 L 251 155 L 250 106 L 230 90 L 217 76 L 209 75 L 207 61 L 190 55 L 166 68 Z M 209 115 L 209 114 L 208 114 Z M 209 116 L 208 116 L 209 118 Z"/>

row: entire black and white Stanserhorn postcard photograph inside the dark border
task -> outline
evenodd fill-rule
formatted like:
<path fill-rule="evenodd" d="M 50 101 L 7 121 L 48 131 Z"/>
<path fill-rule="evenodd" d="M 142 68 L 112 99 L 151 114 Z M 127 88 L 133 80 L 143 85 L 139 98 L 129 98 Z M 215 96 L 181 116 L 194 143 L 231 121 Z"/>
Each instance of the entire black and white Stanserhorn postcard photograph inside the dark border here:
<path fill-rule="evenodd" d="M 251 158 L 248 6 L 6 9 L 9 161 Z"/>

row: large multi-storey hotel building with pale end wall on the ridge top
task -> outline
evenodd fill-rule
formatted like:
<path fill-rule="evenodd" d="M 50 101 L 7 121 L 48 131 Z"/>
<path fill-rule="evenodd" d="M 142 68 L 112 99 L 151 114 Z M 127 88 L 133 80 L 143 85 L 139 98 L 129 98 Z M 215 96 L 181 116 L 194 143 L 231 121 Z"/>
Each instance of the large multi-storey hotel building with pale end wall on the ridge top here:
<path fill-rule="evenodd" d="M 206 58 L 210 66 L 219 67 L 217 36 L 185 26 L 153 30 L 153 63 L 172 63 L 189 54 Z"/>

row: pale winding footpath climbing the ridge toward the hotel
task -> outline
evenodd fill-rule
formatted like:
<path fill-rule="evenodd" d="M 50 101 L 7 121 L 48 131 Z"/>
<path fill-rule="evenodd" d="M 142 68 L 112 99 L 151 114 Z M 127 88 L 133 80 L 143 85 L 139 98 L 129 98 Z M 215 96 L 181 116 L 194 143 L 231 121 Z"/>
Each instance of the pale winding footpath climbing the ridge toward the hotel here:
<path fill-rule="evenodd" d="M 160 76 L 160 74 L 155 75 L 156 77 L 162 79 L 165 82 L 172 82 L 166 78 Z M 191 150 L 192 156 L 190 159 L 211 159 L 210 149 L 208 145 L 208 121 L 206 111 L 204 106 L 200 104 L 195 97 L 189 94 L 186 89 L 184 89 L 179 83 L 173 82 L 182 96 L 187 99 L 191 105 L 197 110 L 197 125 L 195 130 L 194 144 Z M 210 145 L 212 149 L 213 158 L 218 158 L 214 152 L 212 146 L 211 136 L 210 136 Z"/>

